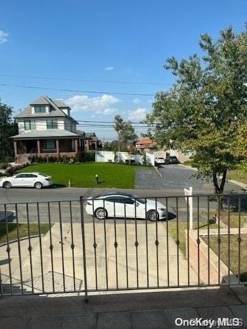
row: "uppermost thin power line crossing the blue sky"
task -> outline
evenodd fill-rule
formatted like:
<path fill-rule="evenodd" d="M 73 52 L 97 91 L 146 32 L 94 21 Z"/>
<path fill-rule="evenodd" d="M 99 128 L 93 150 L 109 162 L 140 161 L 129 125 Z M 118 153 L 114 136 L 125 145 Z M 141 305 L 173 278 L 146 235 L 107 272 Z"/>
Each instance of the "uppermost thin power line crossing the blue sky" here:
<path fill-rule="evenodd" d="M 150 85 L 150 86 L 172 86 L 172 84 L 164 84 L 161 82 L 130 82 L 130 81 L 119 81 L 119 80 L 90 80 L 90 79 L 75 79 L 71 77 L 38 77 L 30 75 L 11 75 L 11 74 L 0 74 L 0 77 L 23 77 L 27 79 L 38 79 L 38 80 L 60 80 L 60 81 L 77 81 L 77 82 L 102 82 L 109 84 L 136 84 L 136 85 Z"/>

